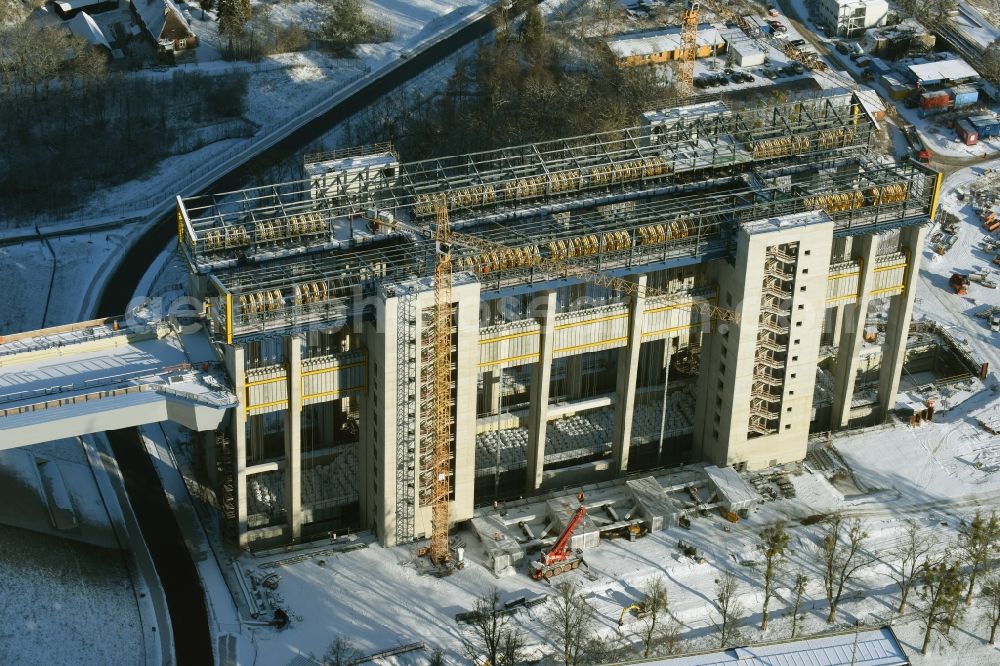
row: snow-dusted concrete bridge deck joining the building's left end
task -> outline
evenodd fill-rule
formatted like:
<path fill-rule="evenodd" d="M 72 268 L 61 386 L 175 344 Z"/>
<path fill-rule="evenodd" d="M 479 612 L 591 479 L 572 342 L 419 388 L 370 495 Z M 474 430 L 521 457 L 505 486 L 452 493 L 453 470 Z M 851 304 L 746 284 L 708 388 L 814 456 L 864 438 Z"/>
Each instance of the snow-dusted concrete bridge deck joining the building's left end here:
<path fill-rule="evenodd" d="M 0 449 L 166 420 L 215 430 L 236 396 L 191 328 L 109 319 L 0 339 Z"/>

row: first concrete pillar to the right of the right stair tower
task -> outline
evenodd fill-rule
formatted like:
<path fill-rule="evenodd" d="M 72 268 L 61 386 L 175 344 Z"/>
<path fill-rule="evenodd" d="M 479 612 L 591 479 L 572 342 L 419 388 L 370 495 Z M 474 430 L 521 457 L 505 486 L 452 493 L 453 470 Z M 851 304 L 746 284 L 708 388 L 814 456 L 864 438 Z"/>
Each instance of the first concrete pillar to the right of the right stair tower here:
<path fill-rule="evenodd" d="M 861 261 L 858 276 L 858 302 L 844 305 L 837 345 L 837 363 L 833 377 L 833 407 L 830 410 L 830 428 L 836 430 L 847 425 L 854 398 L 854 382 L 858 375 L 861 346 L 864 343 L 865 319 L 871 290 L 875 279 L 875 256 L 878 252 L 878 235 L 869 234 L 854 239 L 854 258 Z"/>

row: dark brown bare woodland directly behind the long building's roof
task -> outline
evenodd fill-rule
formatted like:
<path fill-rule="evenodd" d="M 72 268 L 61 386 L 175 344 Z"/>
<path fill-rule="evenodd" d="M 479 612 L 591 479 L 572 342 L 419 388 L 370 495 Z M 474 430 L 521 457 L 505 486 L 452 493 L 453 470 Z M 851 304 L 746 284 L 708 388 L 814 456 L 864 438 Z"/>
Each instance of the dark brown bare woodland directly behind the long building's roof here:
<path fill-rule="evenodd" d="M 621 68 L 600 40 L 547 24 L 531 3 L 501 11 L 497 37 L 460 59 L 444 90 L 400 113 L 381 99 L 346 141 L 391 141 L 406 161 L 618 129 L 671 94 L 653 68 Z"/>

